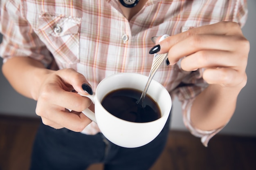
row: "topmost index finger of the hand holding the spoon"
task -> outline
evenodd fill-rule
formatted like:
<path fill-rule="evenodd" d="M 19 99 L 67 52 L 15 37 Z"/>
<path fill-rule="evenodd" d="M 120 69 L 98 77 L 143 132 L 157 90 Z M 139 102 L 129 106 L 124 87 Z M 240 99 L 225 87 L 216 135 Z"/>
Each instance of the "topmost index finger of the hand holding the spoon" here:
<path fill-rule="evenodd" d="M 240 26 L 236 22 L 218 22 L 190 29 L 177 35 L 172 35 L 165 40 L 159 42 L 161 49 L 158 53 L 167 53 L 168 50 L 178 42 L 185 40 L 193 35 L 212 34 L 212 35 L 240 35 L 243 36 Z M 156 42 L 158 42 L 157 38 Z"/>

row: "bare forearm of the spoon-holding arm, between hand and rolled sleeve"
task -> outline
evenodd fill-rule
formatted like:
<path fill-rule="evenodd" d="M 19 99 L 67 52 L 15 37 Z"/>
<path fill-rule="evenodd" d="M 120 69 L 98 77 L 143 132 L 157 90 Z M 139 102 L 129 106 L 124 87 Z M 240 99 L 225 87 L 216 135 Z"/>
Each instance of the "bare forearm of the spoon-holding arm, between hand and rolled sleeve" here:
<path fill-rule="evenodd" d="M 201 130 L 213 130 L 224 126 L 234 114 L 241 89 L 209 85 L 193 102 L 192 124 Z"/>

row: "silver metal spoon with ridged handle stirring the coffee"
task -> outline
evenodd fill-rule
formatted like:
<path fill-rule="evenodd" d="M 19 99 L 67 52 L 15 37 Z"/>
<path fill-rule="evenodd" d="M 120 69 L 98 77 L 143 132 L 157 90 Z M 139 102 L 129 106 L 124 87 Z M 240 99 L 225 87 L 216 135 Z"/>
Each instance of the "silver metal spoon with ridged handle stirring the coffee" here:
<path fill-rule="evenodd" d="M 163 35 L 159 42 L 164 40 L 165 38 L 167 38 L 169 35 Z M 148 91 L 148 87 L 149 87 L 149 84 L 151 82 L 151 80 L 153 79 L 155 73 L 157 72 L 157 69 L 159 68 L 159 66 L 162 64 L 163 61 L 165 61 L 167 59 L 167 56 L 168 56 L 168 53 L 163 53 L 163 54 L 155 54 L 154 55 L 154 58 L 153 58 L 153 63 L 152 63 L 152 66 L 151 66 L 151 70 L 150 70 L 150 73 L 149 73 L 149 76 L 148 76 L 148 81 L 146 83 L 146 86 L 144 88 L 144 91 L 142 92 L 141 94 L 141 97 L 139 98 L 139 100 L 136 102 L 137 104 L 141 104 L 142 107 L 143 107 L 143 101 L 144 101 L 144 98 L 146 96 L 146 93 Z"/>

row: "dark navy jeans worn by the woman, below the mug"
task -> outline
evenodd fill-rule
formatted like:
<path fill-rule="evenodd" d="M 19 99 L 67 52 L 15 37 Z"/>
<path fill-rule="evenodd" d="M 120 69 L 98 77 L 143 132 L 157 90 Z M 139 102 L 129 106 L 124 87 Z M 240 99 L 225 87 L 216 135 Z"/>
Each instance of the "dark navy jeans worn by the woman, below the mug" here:
<path fill-rule="evenodd" d="M 164 149 L 169 125 L 170 116 L 162 132 L 149 144 L 123 148 L 101 133 L 84 135 L 41 123 L 34 142 L 31 170 L 85 170 L 92 163 L 104 163 L 104 170 L 148 170 Z"/>

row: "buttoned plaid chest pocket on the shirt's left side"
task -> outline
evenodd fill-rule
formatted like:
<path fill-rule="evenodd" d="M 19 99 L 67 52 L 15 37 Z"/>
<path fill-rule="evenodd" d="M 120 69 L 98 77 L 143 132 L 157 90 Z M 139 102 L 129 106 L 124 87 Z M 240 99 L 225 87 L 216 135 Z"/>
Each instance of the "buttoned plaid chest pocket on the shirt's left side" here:
<path fill-rule="evenodd" d="M 79 62 L 81 18 L 43 13 L 38 20 L 38 34 L 52 52 L 56 62 Z"/>

